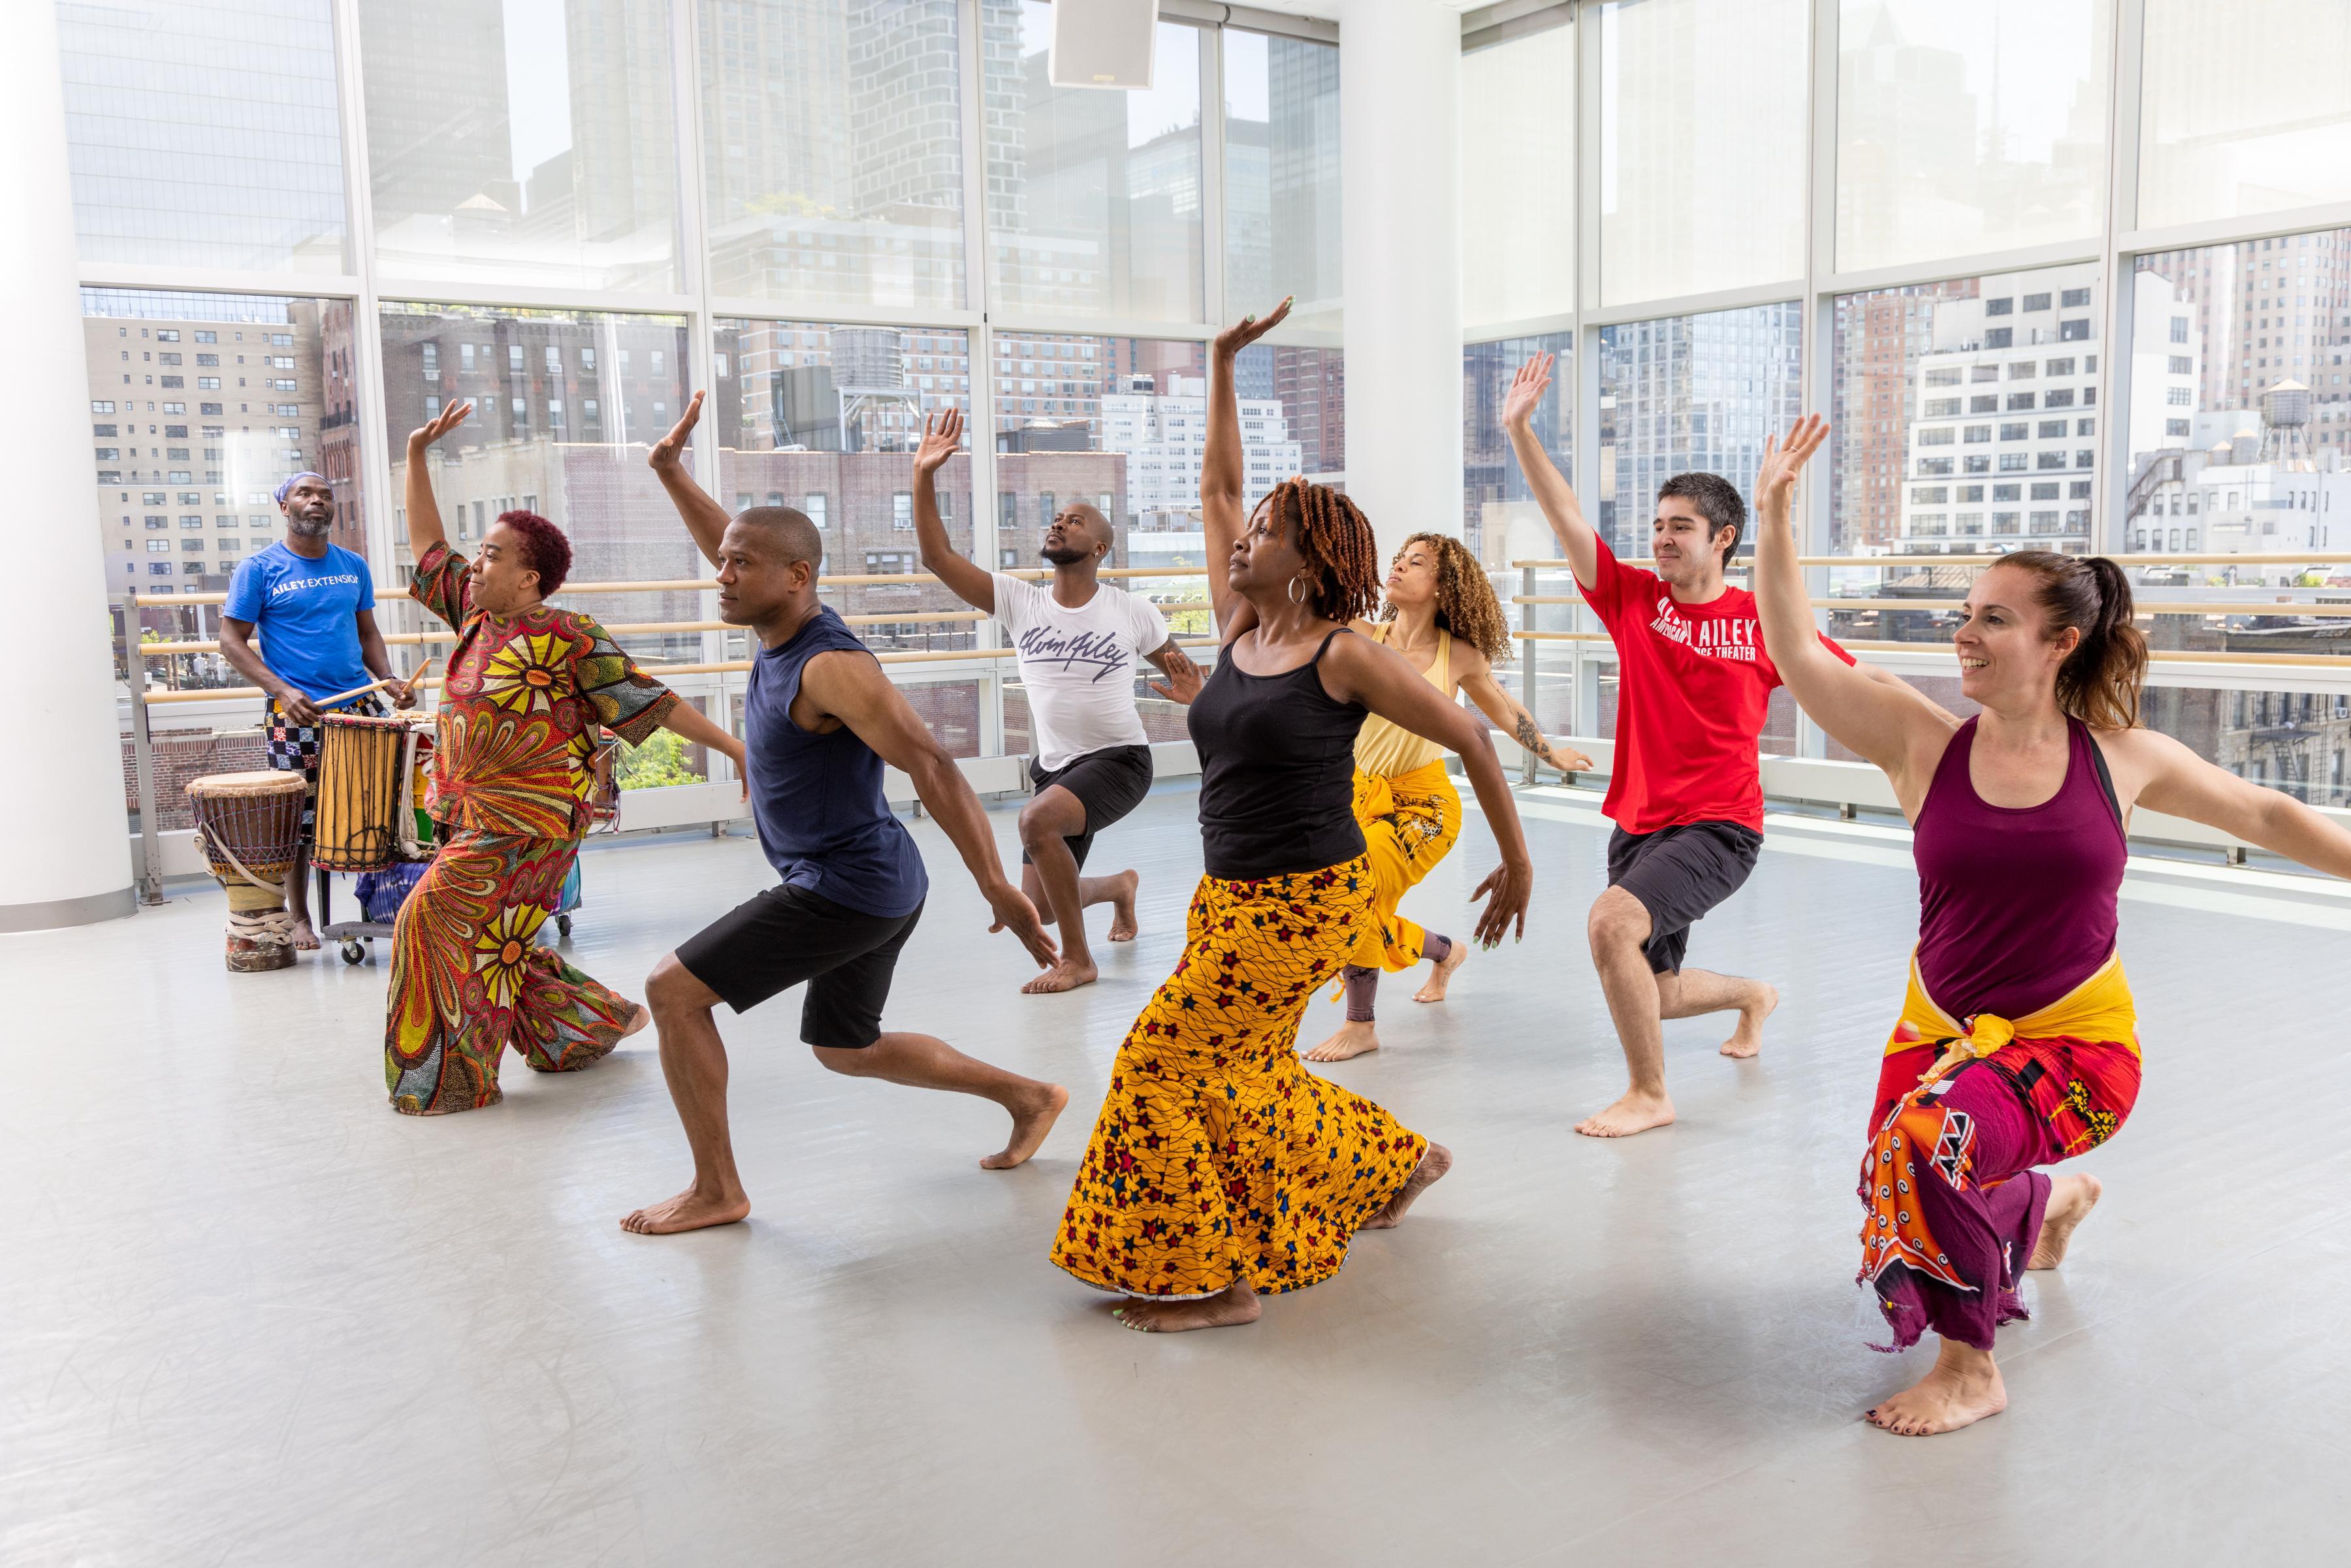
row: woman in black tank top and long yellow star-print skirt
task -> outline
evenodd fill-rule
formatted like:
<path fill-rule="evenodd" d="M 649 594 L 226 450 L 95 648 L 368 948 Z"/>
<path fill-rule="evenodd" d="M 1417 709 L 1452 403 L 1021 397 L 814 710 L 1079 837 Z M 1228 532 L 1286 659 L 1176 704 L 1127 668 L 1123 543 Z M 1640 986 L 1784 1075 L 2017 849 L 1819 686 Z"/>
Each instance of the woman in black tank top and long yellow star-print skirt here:
<path fill-rule="evenodd" d="M 1479 940 L 1526 919 L 1533 870 L 1486 726 L 1347 623 L 1371 611 L 1371 524 L 1333 489 L 1284 480 L 1244 534 L 1234 355 L 1288 313 L 1215 341 L 1201 510 L 1223 656 L 1192 693 L 1208 875 L 1187 945 L 1119 1046 L 1053 1262 L 1171 1333 L 1258 1316 L 1258 1295 L 1328 1279 L 1359 1229 L 1404 1218 L 1453 1157 L 1371 1100 L 1310 1074 L 1298 1020 L 1373 922 L 1375 882 L 1347 809 L 1366 712 L 1469 764 L 1502 865 Z"/>

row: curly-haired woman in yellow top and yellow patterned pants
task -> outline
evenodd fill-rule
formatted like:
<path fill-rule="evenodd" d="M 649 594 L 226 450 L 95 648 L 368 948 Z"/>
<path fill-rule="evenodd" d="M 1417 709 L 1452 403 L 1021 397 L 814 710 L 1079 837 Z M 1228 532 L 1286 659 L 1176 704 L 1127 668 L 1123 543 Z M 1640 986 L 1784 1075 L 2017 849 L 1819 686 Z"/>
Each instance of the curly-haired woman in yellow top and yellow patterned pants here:
<path fill-rule="evenodd" d="M 1509 658 L 1509 623 L 1462 541 L 1448 534 L 1406 538 L 1387 569 L 1380 621 L 1357 621 L 1354 630 L 1404 654 L 1448 698 L 1467 691 L 1488 719 L 1549 766 L 1566 773 L 1592 766 L 1575 748 L 1545 741 L 1535 717 L 1493 677 L 1493 668 Z M 1354 820 L 1364 827 L 1378 875 L 1375 919 L 1366 922 L 1340 978 L 1347 1023 L 1305 1053 L 1310 1063 L 1342 1063 L 1380 1048 L 1371 1004 L 1382 969 L 1434 961 L 1436 973 L 1413 1001 L 1444 1001 L 1446 983 L 1469 957 L 1467 943 L 1396 914 L 1404 893 L 1446 858 L 1462 830 L 1462 797 L 1446 778 L 1444 748 L 1378 715 L 1364 719 L 1354 741 Z"/>

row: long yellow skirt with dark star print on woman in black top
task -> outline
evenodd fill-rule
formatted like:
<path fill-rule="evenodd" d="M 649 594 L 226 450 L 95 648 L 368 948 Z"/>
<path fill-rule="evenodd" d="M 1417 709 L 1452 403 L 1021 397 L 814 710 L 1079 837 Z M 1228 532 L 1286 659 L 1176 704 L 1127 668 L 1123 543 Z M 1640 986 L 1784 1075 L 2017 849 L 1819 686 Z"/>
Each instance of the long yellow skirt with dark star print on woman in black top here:
<path fill-rule="evenodd" d="M 1159 1300 L 1338 1274 L 1429 1143 L 1298 1063 L 1307 999 L 1371 922 L 1368 858 L 1201 877 L 1176 973 L 1126 1032 L 1053 1262 Z"/>

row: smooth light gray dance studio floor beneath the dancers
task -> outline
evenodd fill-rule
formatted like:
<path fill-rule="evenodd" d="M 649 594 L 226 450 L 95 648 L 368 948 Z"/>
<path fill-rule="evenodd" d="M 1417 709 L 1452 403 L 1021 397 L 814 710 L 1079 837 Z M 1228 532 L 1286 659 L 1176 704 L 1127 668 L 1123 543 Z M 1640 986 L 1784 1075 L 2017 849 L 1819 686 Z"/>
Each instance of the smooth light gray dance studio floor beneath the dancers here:
<path fill-rule="evenodd" d="M 825 1074 L 795 992 L 724 1025 L 755 1213 L 696 1237 L 618 1229 L 686 1178 L 651 1034 L 411 1121 L 383 966 L 228 976 L 209 884 L 0 938 L 0 1561 L 2342 1561 L 2351 903 L 2132 877 L 2151 1072 L 2085 1161 L 2106 1204 L 2001 1338 L 2008 1413 L 1895 1439 L 1857 1415 L 1925 1354 L 1867 1349 L 1853 1180 L 1914 936 L 1900 835 L 1775 832 L 1690 959 L 1780 983 L 1761 1060 L 1667 1025 L 1681 1124 L 1592 1143 L 1570 1124 L 1622 1086 L 1582 929 L 1606 837 L 1589 795 L 1526 799 L 1526 943 L 1444 1006 L 1389 980 L 1387 1048 L 1328 1070 L 1455 1173 L 1338 1279 L 1176 1338 L 1046 1244 L 1180 945 L 1183 785 L 1098 844 L 1143 867 L 1143 940 L 1067 997 L 1013 994 L 917 827 L 938 886 L 889 1020 L 1067 1084 L 1037 1161 L 973 1164 L 992 1105 Z M 1472 816 L 1406 910 L 1467 929 L 1488 865 Z M 745 837 L 595 846 L 571 952 L 635 990 L 766 882 Z"/>

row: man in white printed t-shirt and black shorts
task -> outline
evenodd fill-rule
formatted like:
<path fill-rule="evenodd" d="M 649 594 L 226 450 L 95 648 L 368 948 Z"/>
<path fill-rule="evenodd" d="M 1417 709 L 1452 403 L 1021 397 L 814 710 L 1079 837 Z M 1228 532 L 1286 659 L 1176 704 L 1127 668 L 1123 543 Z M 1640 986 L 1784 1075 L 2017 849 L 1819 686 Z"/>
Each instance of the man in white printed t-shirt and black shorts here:
<path fill-rule="evenodd" d="M 1046 524 L 1044 559 L 1053 583 L 985 571 L 947 543 L 938 517 L 938 468 L 964 440 L 964 416 L 945 409 L 924 421 L 915 454 L 915 538 L 922 564 L 964 604 L 1002 621 L 1020 649 L 1027 691 L 1034 795 L 1020 811 L 1020 884 L 1060 926 L 1060 961 L 1023 992 L 1065 992 L 1096 978 L 1086 947 L 1086 905 L 1114 905 L 1110 940 L 1136 940 L 1136 872 L 1081 877 L 1093 835 L 1133 811 L 1152 788 L 1152 748 L 1136 710 L 1136 658 L 1168 677 L 1183 701 L 1199 670 L 1168 635 L 1150 599 L 1098 578 L 1114 534 L 1110 520 L 1072 501 Z"/>

